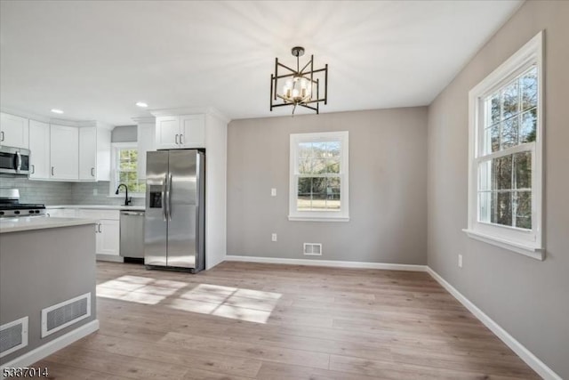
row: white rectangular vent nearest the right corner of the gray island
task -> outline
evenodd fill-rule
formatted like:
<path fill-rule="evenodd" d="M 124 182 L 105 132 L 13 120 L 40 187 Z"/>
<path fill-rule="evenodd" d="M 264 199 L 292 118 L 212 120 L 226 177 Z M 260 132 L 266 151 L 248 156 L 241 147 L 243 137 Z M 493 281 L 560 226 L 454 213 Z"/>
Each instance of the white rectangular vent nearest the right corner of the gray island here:
<path fill-rule="evenodd" d="M 60 331 L 79 320 L 91 316 L 91 293 L 79 295 L 68 301 L 42 310 L 42 337 Z"/>

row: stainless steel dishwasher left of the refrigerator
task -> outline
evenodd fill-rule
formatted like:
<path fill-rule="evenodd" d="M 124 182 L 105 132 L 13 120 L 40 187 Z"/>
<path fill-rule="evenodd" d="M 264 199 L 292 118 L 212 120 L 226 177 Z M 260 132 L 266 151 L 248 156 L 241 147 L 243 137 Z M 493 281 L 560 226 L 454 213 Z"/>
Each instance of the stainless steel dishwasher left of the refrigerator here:
<path fill-rule="evenodd" d="M 123 257 L 144 259 L 144 211 L 121 211 L 121 244 Z"/>

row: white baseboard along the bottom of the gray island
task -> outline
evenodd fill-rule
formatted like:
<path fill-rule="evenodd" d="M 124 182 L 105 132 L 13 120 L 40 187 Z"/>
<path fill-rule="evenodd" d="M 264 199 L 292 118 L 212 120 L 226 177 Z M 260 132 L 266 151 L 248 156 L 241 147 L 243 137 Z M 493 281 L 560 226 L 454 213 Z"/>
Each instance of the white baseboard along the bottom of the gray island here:
<path fill-rule="evenodd" d="M 62 348 L 67 347 L 84 336 L 88 336 L 99 329 L 99 319 L 92 320 L 89 323 L 84 324 L 82 327 L 78 327 L 73 331 L 69 331 L 67 334 L 59 336 L 52 341 L 35 348 L 30 352 L 26 352 L 14 360 L 10 360 L 4 363 L 0 371 L 0 378 L 4 379 L 4 368 L 22 368 L 29 367 L 30 365 L 36 363 L 36 361 L 42 360 L 50 356 L 53 352 L 60 351 Z"/>

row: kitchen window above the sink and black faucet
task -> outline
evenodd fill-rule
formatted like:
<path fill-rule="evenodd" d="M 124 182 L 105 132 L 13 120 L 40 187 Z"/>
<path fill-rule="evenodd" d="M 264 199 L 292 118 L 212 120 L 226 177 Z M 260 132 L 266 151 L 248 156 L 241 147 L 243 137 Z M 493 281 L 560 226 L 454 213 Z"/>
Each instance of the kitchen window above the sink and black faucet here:
<path fill-rule="evenodd" d="M 124 183 L 128 186 L 129 196 L 144 197 L 146 181 L 139 179 L 138 149 L 136 142 L 115 142 L 113 145 L 113 170 L 111 174 L 110 192 L 115 195 L 116 186 Z M 124 189 L 123 189 L 124 190 Z"/>

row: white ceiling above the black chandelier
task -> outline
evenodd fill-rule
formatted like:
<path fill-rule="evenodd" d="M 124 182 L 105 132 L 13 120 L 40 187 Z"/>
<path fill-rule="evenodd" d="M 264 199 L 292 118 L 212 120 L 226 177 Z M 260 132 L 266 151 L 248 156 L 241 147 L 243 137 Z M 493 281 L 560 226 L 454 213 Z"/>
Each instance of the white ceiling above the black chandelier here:
<path fill-rule="evenodd" d="M 294 45 L 328 63 L 322 112 L 427 105 L 521 3 L 2 1 L 0 106 L 112 125 L 148 116 L 136 101 L 289 115 L 269 85 Z"/>

